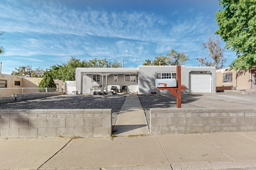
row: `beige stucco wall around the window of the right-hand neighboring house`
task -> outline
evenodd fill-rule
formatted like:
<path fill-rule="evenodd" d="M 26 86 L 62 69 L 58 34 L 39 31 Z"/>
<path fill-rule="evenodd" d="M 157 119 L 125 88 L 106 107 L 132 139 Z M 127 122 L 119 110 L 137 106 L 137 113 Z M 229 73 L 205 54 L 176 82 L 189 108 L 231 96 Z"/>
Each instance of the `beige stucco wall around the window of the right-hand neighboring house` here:
<path fill-rule="evenodd" d="M 216 70 L 216 87 L 234 86 L 236 90 L 250 89 L 250 70 L 229 70 L 229 68 Z M 223 74 L 229 72 L 232 72 L 232 82 L 223 83 Z"/>

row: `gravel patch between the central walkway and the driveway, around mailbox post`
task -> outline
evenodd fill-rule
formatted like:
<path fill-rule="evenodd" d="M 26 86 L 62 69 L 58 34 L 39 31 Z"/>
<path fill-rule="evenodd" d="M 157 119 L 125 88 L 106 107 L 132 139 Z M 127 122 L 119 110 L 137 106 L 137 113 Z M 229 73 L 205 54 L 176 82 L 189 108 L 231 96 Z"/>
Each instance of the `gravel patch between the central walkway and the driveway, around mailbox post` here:
<path fill-rule="evenodd" d="M 146 119 L 148 122 L 149 126 L 149 120 L 150 120 L 150 108 L 168 108 L 168 107 L 173 107 L 177 108 L 177 103 L 176 100 L 172 100 L 170 98 L 167 98 L 165 96 L 162 96 L 160 94 L 139 94 L 138 98 L 140 100 L 140 104 L 144 109 Z M 203 107 L 203 106 L 196 106 L 192 104 L 186 104 L 186 103 L 181 103 L 181 107 Z"/>

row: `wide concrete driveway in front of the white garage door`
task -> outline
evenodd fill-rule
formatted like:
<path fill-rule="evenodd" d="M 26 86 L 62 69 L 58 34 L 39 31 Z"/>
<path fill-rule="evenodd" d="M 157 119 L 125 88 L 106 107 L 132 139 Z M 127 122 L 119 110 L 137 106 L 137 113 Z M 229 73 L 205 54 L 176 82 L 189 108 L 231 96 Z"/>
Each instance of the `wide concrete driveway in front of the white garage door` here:
<path fill-rule="evenodd" d="M 172 94 L 162 94 L 176 100 Z M 197 106 L 216 108 L 255 108 L 256 98 L 241 94 L 225 93 L 184 93 L 182 102 Z"/>

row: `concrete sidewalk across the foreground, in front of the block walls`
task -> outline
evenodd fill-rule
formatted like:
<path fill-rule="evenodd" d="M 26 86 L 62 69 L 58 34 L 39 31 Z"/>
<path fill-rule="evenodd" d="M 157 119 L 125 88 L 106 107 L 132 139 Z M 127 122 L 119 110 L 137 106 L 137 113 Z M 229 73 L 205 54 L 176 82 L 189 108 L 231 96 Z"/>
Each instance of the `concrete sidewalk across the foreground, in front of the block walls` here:
<path fill-rule="evenodd" d="M 255 169 L 256 132 L 0 140 L 0 169 Z"/>

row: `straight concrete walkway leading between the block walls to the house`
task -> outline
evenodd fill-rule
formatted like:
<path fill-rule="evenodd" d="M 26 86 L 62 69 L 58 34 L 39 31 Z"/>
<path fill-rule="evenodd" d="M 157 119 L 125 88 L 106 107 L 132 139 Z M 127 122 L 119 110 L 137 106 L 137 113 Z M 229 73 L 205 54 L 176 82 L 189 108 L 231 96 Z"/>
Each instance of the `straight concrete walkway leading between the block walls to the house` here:
<path fill-rule="evenodd" d="M 127 95 L 113 133 L 118 136 L 150 134 L 144 110 L 136 94 Z"/>

